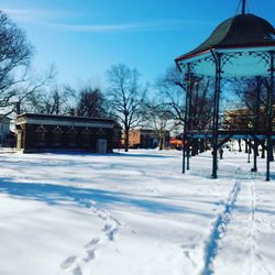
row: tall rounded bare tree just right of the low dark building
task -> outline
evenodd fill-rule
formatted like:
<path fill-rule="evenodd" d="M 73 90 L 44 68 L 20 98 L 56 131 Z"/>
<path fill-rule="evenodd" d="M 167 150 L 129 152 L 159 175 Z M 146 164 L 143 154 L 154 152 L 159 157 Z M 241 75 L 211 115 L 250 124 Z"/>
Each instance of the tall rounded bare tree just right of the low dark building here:
<path fill-rule="evenodd" d="M 129 148 L 129 131 L 142 121 L 142 105 L 146 89 L 139 82 L 139 72 L 124 64 L 112 66 L 108 70 L 108 99 L 111 116 L 118 120 L 124 134 L 124 150 Z"/>

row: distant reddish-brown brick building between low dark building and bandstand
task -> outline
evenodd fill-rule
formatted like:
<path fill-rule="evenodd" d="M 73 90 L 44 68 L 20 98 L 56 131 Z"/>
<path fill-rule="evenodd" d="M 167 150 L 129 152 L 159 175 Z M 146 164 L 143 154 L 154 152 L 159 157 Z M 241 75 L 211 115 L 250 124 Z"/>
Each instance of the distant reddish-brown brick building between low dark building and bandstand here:
<path fill-rule="evenodd" d="M 168 143 L 169 132 L 164 133 L 164 143 Z M 135 129 L 129 132 L 129 147 L 155 148 L 158 146 L 160 134 L 154 130 Z"/>

